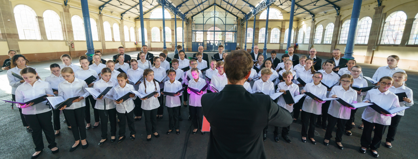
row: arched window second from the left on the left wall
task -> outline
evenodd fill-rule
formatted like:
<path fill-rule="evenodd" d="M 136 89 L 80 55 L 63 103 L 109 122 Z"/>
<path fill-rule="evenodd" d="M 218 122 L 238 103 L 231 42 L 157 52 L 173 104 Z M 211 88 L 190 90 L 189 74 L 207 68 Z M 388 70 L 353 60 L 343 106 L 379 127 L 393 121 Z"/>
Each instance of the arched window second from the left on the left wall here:
<path fill-rule="evenodd" d="M 45 10 L 42 16 L 48 40 L 64 40 L 59 15 L 53 10 Z"/>

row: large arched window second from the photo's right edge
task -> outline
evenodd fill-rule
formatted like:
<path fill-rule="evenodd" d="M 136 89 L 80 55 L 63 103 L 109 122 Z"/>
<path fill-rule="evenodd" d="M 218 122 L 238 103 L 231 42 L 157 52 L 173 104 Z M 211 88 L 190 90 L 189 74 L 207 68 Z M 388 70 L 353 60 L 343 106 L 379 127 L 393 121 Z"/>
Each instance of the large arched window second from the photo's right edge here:
<path fill-rule="evenodd" d="M 396 11 L 390 14 L 383 27 L 382 40 L 380 44 L 400 44 L 403 30 L 405 29 L 406 14 L 402 11 Z"/>

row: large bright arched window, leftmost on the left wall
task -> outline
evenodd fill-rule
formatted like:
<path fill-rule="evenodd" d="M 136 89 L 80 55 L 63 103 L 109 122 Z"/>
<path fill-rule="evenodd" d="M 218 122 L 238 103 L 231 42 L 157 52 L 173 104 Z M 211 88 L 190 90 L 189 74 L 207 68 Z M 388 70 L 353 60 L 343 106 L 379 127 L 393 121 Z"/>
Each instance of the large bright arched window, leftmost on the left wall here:
<path fill-rule="evenodd" d="M 13 9 L 16 26 L 18 27 L 19 39 L 41 40 L 38 18 L 36 12 L 27 5 L 16 5 Z"/>

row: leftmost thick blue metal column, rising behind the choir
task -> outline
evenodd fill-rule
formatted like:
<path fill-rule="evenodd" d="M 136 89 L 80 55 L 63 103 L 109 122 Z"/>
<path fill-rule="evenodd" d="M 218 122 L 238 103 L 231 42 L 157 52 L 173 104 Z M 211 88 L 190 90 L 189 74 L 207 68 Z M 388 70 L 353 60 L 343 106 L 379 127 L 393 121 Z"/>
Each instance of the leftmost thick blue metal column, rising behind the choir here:
<path fill-rule="evenodd" d="M 86 43 L 87 43 L 87 58 L 90 60 L 93 59 L 94 47 L 93 47 L 93 38 L 92 38 L 92 27 L 90 26 L 90 15 L 89 15 L 89 4 L 87 0 L 81 0 L 81 7 L 83 12 L 84 20 L 84 31 L 86 33 Z"/>

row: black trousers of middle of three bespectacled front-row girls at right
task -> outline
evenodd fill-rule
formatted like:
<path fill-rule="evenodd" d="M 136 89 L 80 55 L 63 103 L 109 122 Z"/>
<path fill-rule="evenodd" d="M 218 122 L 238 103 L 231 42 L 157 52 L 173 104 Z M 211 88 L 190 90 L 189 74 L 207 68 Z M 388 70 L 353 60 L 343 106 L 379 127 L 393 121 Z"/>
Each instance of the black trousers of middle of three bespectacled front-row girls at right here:
<path fill-rule="evenodd" d="M 328 125 L 326 126 L 325 139 L 331 140 L 332 132 L 335 125 L 337 125 L 337 132 L 335 135 L 335 142 L 342 142 L 342 134 L 344 133 L 344 126 L 348 119 L 340 119 L 328 114 Z"/>

